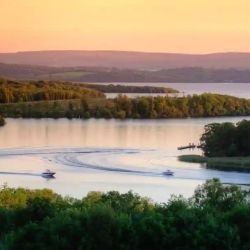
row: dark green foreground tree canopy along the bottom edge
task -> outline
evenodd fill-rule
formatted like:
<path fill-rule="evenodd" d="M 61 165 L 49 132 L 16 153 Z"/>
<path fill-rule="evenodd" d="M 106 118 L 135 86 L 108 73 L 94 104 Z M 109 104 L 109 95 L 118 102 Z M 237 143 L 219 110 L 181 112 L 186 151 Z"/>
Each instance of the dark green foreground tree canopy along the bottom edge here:
<path fill-rule="evenodd" d="M 219 180 L 154 204 L 128 192 L 82 200 L 3 187 L 1 249 L 250 249 L 250 194 Z"/>

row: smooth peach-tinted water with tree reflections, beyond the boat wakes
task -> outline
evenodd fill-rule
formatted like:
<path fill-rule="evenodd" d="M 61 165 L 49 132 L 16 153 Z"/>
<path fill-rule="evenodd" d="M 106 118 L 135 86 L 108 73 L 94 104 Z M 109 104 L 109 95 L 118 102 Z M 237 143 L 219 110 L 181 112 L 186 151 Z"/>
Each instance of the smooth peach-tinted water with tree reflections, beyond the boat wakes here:
<path fill-rule="evenodd" d="M 0 128 L 0 148 L 129 147 L 176 152 L 178 146 L 197 144 L 205 124 L 241 119 L 247 117 L 126 121 L 7 119 L 7 125 Z"/>

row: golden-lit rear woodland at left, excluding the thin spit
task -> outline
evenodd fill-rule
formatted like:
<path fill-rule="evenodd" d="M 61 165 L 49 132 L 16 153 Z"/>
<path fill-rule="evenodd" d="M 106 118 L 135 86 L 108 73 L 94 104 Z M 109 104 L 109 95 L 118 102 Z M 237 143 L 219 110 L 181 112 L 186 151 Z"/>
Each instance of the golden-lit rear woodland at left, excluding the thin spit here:
<path fill-rule="evenodd" d="M 104 97 L 104 94 L 69 83 L 0 80 L 0 103 L 80 99 L 83 97 Z"/>

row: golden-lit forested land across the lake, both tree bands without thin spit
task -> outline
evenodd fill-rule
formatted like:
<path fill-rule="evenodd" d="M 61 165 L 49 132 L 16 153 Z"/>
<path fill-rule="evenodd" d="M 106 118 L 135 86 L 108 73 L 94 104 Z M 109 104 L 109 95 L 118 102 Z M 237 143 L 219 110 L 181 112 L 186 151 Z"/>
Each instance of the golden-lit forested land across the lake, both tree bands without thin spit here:
<path fill-rule="evenodd" d="M 92 86 L 93 87 L 93 86 Z M 185 97 L 107 99 L 86 85 L 4 80 L 0 84 L 0 114 L 4 117 L 186 118 L 250 115 L 250 100 L 218 94 Z"/>

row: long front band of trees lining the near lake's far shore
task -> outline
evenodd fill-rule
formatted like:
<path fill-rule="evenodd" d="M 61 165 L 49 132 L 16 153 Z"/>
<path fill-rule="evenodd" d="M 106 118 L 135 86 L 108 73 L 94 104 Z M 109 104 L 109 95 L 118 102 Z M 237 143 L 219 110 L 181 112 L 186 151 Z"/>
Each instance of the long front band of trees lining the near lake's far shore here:
<path fill-rule="evenodd" d="M 250 100 L 202 94 L 186 97 L 137 97 L 0 104 L 5 117 L 185 118 L 250 115 Z"/>

